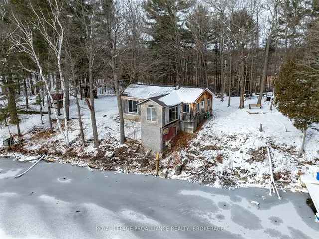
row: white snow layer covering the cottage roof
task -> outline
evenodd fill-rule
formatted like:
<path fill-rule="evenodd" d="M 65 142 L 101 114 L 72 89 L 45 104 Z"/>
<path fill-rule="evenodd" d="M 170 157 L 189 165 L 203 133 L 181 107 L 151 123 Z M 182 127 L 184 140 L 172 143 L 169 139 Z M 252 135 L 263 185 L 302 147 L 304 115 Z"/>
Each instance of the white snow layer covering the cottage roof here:
<path fill-rule="evenodd" d="M 172 106 L 180 103 L 194 103 L 197 98 L 207 89 L 199 87 L 180 87 L 179 89 L 175 88 L 175 86 L 131 84 L 125 89 L 123 95 L 139 99 L 149 99 L 156 97 L 156 99 L 154 100 L 156 100 L 156 102 L 162 102 L 163 106 Z M 213 94 L 211 91 L 209 91 L 209 93 Z M 161 95 L 163 96 L 159 97 Z"/>

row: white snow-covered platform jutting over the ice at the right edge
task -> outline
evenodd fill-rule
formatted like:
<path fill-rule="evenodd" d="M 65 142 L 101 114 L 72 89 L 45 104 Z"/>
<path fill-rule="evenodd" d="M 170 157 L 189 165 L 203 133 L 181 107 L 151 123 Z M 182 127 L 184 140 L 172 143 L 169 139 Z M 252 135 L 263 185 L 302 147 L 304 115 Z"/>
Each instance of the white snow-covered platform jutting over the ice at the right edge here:
<path fill-rule="evenodd" d="M 300 181 L 304 184 L 309 192 L 309 195 L 315 205 L 317 213 L 315 215 L 316 222 L 319 223 L 319 180 L 316 177 L 311 175 L 302 175 Z"/>

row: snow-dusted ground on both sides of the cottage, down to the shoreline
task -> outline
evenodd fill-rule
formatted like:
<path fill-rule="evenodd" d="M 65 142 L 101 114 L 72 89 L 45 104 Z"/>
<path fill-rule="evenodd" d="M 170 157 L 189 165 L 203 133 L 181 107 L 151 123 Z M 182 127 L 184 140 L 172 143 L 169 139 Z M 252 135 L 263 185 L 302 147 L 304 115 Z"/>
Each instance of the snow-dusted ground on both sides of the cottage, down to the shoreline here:
<path fill-rule="evenodd" d="M 272 156 L 274 177 L 279 188 L 302 190 L 299 175 L 314 174 L 319 168 L 319 125 L 312 125 L 308 130 L 305 154 L 298 157 L 301 132 L 275 107 L 270 111 L 269 102 L 263 102 L 263 109 L 249 110 L 248 104 L 256 103 L 256 101 L 257 99 L 246 100 L 245 108 L 238 109 L 238 97 L 231 98 L 231 107 L 227 107 L 227 97 L 224 102 L 215 98 L 214 117 L 198 130 L 188 142 L 187 147 L 162 160 L 161 169 L 167 169 L 169 178 L 195 181 L 216 187 L 268 187 L 270 177 L 266 151 L 268 146 Z M 50 134 L 47 115 L 44 115 L 43 125 L 40 115 L 23 115 L 21 116 L 21 130 L 24 134 L 23 149 L 20 148 L 16 152 L 54 153 L 56 156 L 54 161 L 93 165 L 101 169 L 116 168 L 116 170 L 135 173 L 154 172 L 155 164 L 153 160 L 149 161 L 152 157 L 148 157 L 139 145 L 134 147 L 119 145 L 116 97 L 99 96 L 95 101 L 97 128 L 101 140 L 100 151 L 93 148 L 90 112 L 83 102 L 81 111 L 88 146 L 85 150 L 81 149 L 76 106 L 73 100 L 71 103 L 70 117 L 72 119 L 69 130 L 71 148 L 67 149 L 63 146 L 58 130 L 53 135 Z M 249 112 L 261 114 L 249 114 Z M 259 132 L 260 123 L 263 125 L 262 132 Z M 56 123 L 54 126 L 56 128 Z M 10 129 L 16 132 L 15 126 L 11 126 Z M 7 127 L 0 128 L 1 137 L 8 135 L 7 130 Z M 133 131 L 135 131 L 135 138 L 140 139 L 140 124 L 126 121 L 126 136 L 133 139 Z M 94 160 L 100 160 L 98 164 L 92 164 L 92 158 L 90 158 L 92 155 Z M 76 160 L 67 159 L 69 157 Z M 23 160 L 23 157 L 20 158 Z M 108 162 L 112 164 L 112 167 L 104 167 Z M 175 165 L 179 163 L 183 165 L 183 172 L 176 176 Z"/>

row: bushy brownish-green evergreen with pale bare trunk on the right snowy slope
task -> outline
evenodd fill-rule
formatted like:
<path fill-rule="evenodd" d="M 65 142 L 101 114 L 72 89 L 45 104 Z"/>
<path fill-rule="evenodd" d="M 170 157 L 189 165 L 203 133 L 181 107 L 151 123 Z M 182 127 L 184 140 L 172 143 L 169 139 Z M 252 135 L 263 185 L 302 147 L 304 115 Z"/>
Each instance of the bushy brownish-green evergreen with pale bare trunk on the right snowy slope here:
<path fill-rule="evenodd" d="M 290 59 L 275 81 L 275 101 L 278 110 L 303 132 L 299 155 L 304 153 L 307 128 L 319 122 L 319 92 L 315 79 L 303 77 L 303 67 Z"/>

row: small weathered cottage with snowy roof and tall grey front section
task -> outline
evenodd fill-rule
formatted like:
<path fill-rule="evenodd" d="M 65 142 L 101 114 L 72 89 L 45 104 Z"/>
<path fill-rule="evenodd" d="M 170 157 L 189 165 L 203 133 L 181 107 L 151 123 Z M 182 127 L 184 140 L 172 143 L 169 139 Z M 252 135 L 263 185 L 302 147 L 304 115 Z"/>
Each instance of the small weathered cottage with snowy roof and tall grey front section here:
<path fill-rule="evenodd" d="M 193 133 L 212 114 L 207 88 L 130 85 L 124 91 L 124 118 L 141 122 L 144 147 L 164 152 L 179 131 Z"/>

